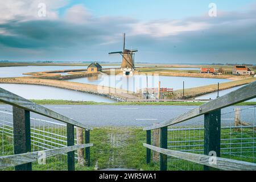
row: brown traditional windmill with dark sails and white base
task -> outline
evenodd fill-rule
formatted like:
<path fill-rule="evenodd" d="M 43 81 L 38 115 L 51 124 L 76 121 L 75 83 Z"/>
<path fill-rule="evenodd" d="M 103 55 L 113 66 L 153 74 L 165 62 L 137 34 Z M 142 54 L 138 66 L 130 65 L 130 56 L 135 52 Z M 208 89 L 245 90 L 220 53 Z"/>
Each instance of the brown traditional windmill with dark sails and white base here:
<path fill-rule="evenodd" d="M 123 75 L 133 75 L 134 72 L 134 56 L 137 49 L 125 49 L 125 34 L 123 34 L 123 51 L 110 52 L 109 55 L 119 53 L 122 56 L 121 71 Z"/>

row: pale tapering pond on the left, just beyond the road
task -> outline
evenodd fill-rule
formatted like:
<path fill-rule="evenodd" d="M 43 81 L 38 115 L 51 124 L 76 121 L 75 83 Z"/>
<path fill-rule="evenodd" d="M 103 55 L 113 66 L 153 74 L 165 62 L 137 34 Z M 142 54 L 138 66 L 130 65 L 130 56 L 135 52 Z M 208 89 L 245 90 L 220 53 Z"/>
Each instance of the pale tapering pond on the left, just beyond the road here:
<path fill-rule="evenodd" d="M 0 88 L 9 90 L 18 96 L 34 100 L 114 102 L 103 96 L 42 85 L 0 84 Z"/>

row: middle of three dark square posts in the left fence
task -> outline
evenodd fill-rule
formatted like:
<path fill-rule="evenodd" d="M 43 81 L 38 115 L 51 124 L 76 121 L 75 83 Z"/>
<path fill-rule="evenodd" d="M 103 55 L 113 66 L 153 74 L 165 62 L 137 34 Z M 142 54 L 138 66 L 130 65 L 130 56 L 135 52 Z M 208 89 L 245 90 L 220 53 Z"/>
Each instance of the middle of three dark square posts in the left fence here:
<path fill-rule="evenodd" d="M 67 123 L 68 146 L 75 145 L 74 125 Z M 75 171 L 75 151 L 68 152 L 68 171 Z"/>

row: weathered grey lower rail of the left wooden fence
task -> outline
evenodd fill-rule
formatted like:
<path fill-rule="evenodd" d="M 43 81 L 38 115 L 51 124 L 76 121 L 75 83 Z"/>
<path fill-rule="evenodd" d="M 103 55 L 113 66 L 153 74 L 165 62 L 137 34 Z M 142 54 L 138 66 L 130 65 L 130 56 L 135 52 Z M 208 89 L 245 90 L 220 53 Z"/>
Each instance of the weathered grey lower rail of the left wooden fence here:
<path fill-rule="evenodd" d="M 25 154 L 2 156 L 0 157 L 0 169 L 19 166 L 20 164 L 35 162 L 42 158 L 50 158 L 52 156 L 56 156 L 56 155 L 70 152 L 70 151 L 75 151 L 80 148 L 87 148 L 92 146 L 93 146 L 92 143 L 88 143 L 88 144 L 81 144 L 77 146 L 55 148 L 51 150 L 44 150 L 44 151 L 38 151 L 38 152 L 29 152 Z"/>

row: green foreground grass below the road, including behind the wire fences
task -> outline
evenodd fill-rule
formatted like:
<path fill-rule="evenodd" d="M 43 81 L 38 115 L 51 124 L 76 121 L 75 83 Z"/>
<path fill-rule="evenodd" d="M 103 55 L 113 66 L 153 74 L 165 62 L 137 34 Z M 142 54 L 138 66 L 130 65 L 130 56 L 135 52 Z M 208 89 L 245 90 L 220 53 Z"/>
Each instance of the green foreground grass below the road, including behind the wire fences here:
<path fill-rule="evenodd" d="M 179 128 L 180 129 L 180 128 Z M 43 134 L 43 131 L 31 130 L 36 134 L 32 135 L 37 143 L 40 139 L 35 137 L 38 134 Z M 45 129 L 44 132 L 54 132 L 62 133 L 65 135 L 65 128 Z M 246 162 L 254 162 L 255 160 L 255 143 L 254 143 L 254 130 L 242 129 L 241 131 L 234 131 L 233 129 L 225 129 L 221 131 L 221 138 L 226 139 L 222 141 L 221 147 L 223 148 L 221 152 L 228 152 L 228 154 L 222 154 L 221 156 L 229 159 L 243 160 Z M 51 142 L 56 142 L 57 139 L 63 139 L 58 137 L 53 137 L 53 135 L 48 135 L 47 140 L 44 144 L 40 146 L 45 146 L 47 144 L 57 147 L 56 144 Z M 39 137 L 42 138 L 42 137 Z M 44 137 L 46 139 L 47 137 Z M 237 139 L 238 140 L 234 140 Z M 240 139 L 244 138 L 244 139 Z M 251 138 L 251 139 L 250 139 Z M 204 139 L 203 130 L 192 130 L 188 131 L 168 131 L 168 147 L 171 150 L 189 150 L 190 152 L 195 152 L 197 154 L 203 154 L 203 142 Z M 230 142 L 232 141 L 232 142 Z M 2 150 L 4 144 L 5 155 L 12 154 L 12 139 L 10 137 L 2 138 L 2 133 L 0 131 L 0 149 Z M 42 142 L 42 141 L 41 141 Z M 146 142 L 146 132 L 142 130 L 141 127 L 96 127 L 90 132 L 90 142 L 94 144 L 90 149 L 90 167 L 81 167 L 76 163 L 76 170 L 94 170 L 97 166 L 98 169 L 109 168 L 110 163 L 115 163 L 116 161 L 122 161 L 122 167 L 131 168 L 137 170 L 159 170 L 158 162 L 151 162 L 146 164 L 146 148 L 143 147 L 143 143 Z M 33 142 L 32 142 L 33 143 Z M 57 142 L 65 144 L 65 142 Z M 241 144 L 242 143 L 242 144 Z M 232 149 L 224 149 L 230 148 Z M 40 148 L 33 148 L 35 151 L 42 150 Z M 232 154 L 230 154 L 232 152 Z M 237 153 L 236 153 L 237 152 Z M 234 154 L 233 154 L 234 153 Z M 0 153 L 1 154 L 1 153 Z M 3 155 L 3 154 L 2 154 Z M 32 163 L 33 170 L 67 170 L 67 155 L 57 155 L 55 157 L 49 158 L 45 165 L 40 165 L 37 162 Z M 9 168 L 11 170 L 13 168 Z M 195 164 L 187 162 L 184 160 L 168 157 L 168 170 L 201 170 L 203 166 L 200 164 Z"/>

